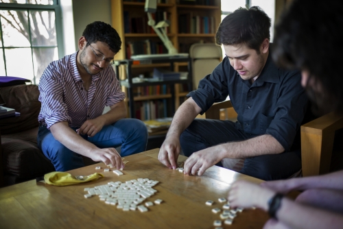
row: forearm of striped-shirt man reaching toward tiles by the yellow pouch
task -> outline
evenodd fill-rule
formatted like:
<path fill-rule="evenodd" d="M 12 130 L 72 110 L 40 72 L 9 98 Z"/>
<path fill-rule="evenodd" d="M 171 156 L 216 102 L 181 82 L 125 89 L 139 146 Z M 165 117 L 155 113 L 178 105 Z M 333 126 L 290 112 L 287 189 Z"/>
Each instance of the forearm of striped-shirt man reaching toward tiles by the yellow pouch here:
<path fill-rule="evenodd" d="M 84 140 L 73 129 L 69 128 L 66 121 L 51 125 L 50 130 L 57 141 L 77 154 L 90 157 L 92 150 L 97 149 L 95 145 Z"/>

